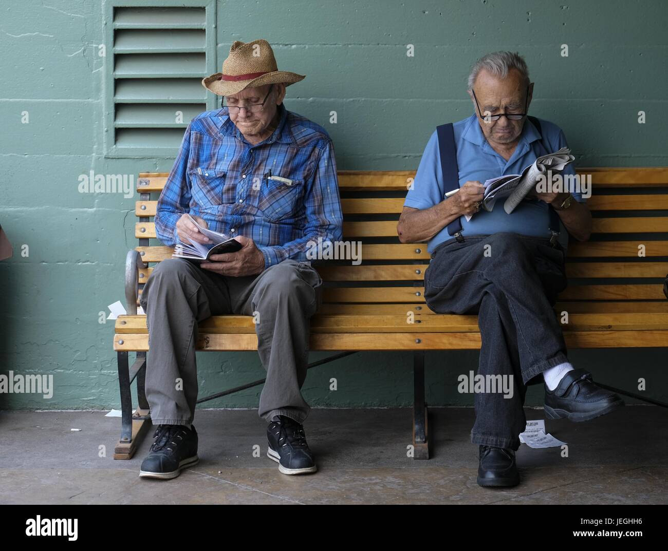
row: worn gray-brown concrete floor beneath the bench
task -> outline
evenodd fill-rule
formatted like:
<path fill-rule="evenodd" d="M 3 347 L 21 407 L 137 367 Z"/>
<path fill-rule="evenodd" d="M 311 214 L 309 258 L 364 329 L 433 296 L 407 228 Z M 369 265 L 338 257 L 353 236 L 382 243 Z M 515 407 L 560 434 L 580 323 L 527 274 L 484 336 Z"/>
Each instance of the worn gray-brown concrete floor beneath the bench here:
<path fill-rule="evenodd" d="M 255 411 L 201 410 L 200 463 L 170 481 L 138 477 L 152 431 L 112 459 L 120 419 L 100 411 L 0 412 L 2 504 L 667 504 L 668 410 L 627 406 L 588 423 L 546 421 L 560 448 L 522 445 L 522 484 L 476 484 L 470 408 L 430 410 L 432 459 L 406 457 L 410 409 L 314 409 L 305 423 L 319 472 L 285 476 Z M 543 419 L 542 409 L 526 409 Z M 71 428 L 81 431 L 71 431 Z M 253 457 L 259 445 L 260 457 Z M 104 448 L 101 448 L 104 446 Z M 106 449 L 106 457 L 101 449 Z"/>

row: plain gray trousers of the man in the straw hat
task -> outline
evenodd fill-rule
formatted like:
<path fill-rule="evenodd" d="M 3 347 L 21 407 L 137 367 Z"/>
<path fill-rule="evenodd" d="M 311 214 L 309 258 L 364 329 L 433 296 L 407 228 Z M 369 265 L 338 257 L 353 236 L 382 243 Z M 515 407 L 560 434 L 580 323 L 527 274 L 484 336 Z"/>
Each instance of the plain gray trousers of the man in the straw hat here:
<path fill-rule="evenodd" d="M 322 303 L 322 279 L 308 262 L 284 260 L 259 275 L 230 277 L 189 260 L 154 268 L 140 299 L 149 347 L 146 398 L 154 425 L 192 423 L 197 400 L 197 322 L 216 314 L 254 316 L 267 370 L 259 415 L 301 423 L 311 408 L 301 395 L 309 356 L 310 319 Z"/>

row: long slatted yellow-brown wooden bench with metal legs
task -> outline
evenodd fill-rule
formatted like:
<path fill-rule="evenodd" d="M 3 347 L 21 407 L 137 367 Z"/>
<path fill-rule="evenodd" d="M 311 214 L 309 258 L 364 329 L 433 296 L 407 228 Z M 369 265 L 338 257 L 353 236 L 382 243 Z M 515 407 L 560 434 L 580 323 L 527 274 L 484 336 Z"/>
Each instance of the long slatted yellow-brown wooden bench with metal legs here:
<path fill-rule="evenodd" d="M 580 172 L 593 175 L 588 204 L 594 224 L 589 242 L 571 239 L 568 247 L 570 285 L 555 305 L 557 314 L 569 313 L 568 324 L 562 326 L 566 344 L 569 348 L 668 346 L 668 301 L 662 289 L 668 272 L 668 168 L 585 168 Z M 148 333 L 146 317 L 136 315 L 136 305 L 152 264 L 172 255 L 169 247 L 149 246 L 149 239 L 156 236 L 151 220 L 157 194 L 166 176 L 143 173 L 138 180 L 135 235 L 139 246 L 126 260 L 128 315 L 118 317 L 114 335 L 122 401 L 122 433 L 115 459 L 132 457 L 150 425 L 144 395 Z M 407 171 L 339 172 L 344 239 L 363 242 L 363 262 L 355 266 L 349 260 L 329 261 L 318 266 L 325 280 L 324 303 L 312 321 L 311 349 L 340 352 L 331 359 L 355 351 L 411 351 L 414 456 L 426 459 L 424 351 L 479 349 L 480 333 L 477 316 L 436 315 L 424 305 L 422 285 L 430 260 L 426 244 L 401 244 L 396 234 L 407 182 L 413 176 L 414 172 Z M 646 256 L 639 256 L 641 244 Z M 199 326 L 197 349 L 257 349 L 252 318 L 220 315 L 207 319 Z M 132 366 L 130 352 L 136 353 Z M 134 379 L 138 409 L 132 415 L 130 384 Z"/>

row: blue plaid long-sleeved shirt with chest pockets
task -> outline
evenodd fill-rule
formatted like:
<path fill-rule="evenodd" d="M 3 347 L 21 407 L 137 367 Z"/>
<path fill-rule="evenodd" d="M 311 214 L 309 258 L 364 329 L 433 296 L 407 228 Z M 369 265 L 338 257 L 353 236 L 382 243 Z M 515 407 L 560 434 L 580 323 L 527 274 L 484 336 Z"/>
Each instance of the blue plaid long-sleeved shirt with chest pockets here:
<path fill-rule="evenodd" d="M 194 118 L 160 194 L 156 234 L 178 240 L 176 222 L 190 212 L 208 227 L 253 239 L 265 268 L 307 260 L 308 242 L 341 240 L 341 202 L 327 131 L 281 104 L 279 126 L 264 142 L 246 142 L 227 108 Z M 269 178 L 292 180 L 291 185 Z"/>

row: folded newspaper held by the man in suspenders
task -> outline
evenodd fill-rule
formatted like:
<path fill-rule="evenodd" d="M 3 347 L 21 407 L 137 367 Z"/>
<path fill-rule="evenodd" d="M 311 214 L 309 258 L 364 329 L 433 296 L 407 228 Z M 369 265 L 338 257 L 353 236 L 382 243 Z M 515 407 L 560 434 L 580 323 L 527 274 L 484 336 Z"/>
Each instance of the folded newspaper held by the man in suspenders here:
<path fill-rule="evenodd" d="M 557 152 L 538 157 L 533 164 L 522 170 L 522 174 L 506 174 L 487 180 L 483 185 L 485 191 L 482 199 L 482 207 L 492 212 L 496 200 L 507 197 L 504 203 L 504 210 L 510 214 L 516 206 L 536 187 L 538 176 L 548 170 L 552 173 L 561 172 L 566 165 L 575 160 L 570 154 L 570 149 L 561 148 Z M 466 220 L 470 220 L 474 215 L 466 214 Z"/>

